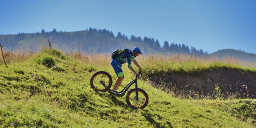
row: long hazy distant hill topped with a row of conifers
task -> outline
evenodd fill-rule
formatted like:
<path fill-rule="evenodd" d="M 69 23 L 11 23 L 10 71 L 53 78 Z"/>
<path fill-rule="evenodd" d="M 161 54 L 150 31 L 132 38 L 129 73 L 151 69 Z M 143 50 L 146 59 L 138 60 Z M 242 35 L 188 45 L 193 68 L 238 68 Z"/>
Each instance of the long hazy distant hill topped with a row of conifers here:
<path fill-rule="evenodd" d="M 197 50 L 195 47 L 188 47 L 185 44 L 169 44 L 164 41 L 164 46 L 160 46 L 157 39 L 132 35 L 128 38 L 126 35 L 118 34 L 115 36 L 112 31 L 106 29 L 89 28 L 76 32 L 62 32 L 53 29 L 51 32 L 36 33 L 18 33 L 12 35 L 0 35 L 0 44 L 10 50 L 23 49 L 37 51 L 42 45 L 47 45 L 48 40 L 51 40 L 53 48 L 59 48 L 64 51 L 84 51 L 88 53 L 112 52 L 117 48 L 133 48 L 139 47 L 143 53 L 159 52 L 166 53 L 181 53 L 181 54 L 196 54 L 205 55 L 202 49 Z"/>

